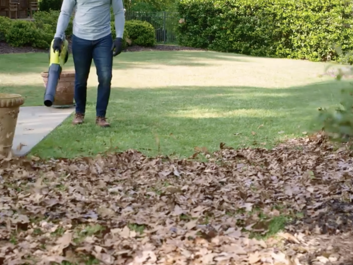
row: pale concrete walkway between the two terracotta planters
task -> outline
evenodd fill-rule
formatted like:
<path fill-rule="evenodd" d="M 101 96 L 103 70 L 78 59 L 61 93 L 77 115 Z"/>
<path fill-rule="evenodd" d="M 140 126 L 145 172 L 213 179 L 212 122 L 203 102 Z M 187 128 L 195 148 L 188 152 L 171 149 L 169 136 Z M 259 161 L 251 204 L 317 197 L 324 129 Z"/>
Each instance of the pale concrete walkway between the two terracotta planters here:
<path fill-rule="evenodd" d="M 45 106 L 20 107 L 12 146 L 14 154 L 26 155 L 74 110 L 75 108 L 55 109 Z"/>

